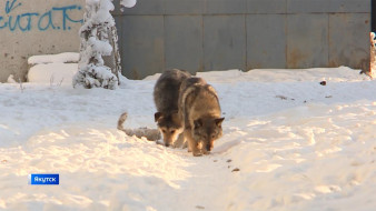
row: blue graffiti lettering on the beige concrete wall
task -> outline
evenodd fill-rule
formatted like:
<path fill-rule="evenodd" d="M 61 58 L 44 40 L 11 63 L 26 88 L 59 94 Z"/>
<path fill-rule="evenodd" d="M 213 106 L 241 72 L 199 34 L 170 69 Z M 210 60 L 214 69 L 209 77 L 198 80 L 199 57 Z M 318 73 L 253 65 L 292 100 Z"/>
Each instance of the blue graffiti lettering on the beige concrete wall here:
<path fill-rule="evenodd" d="M 0 31 L 47 31 L 70 30 L 72 24 L 81 24 L 83 19 L 75 20 L 71 13 L 81 10 L 81 6 L 70 4 L 65 7 L 52 7 L 46 12 L 32 12 L 22 9 L 19 0 L 7 0 L 4 10 L 0 11 Z M 18 11 L 22 11 L 18 13 Z"/>

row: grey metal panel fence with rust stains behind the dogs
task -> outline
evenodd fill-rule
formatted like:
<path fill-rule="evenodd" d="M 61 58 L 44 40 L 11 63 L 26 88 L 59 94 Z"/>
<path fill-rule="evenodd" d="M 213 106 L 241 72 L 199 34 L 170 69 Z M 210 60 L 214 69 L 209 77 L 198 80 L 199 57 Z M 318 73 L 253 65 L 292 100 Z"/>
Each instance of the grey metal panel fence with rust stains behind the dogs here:
<path fill-rule="evenodd" d="M 138 0 L 113 16 L 131 79 L 170 68 L 369 68 L 370 0 Z"/>

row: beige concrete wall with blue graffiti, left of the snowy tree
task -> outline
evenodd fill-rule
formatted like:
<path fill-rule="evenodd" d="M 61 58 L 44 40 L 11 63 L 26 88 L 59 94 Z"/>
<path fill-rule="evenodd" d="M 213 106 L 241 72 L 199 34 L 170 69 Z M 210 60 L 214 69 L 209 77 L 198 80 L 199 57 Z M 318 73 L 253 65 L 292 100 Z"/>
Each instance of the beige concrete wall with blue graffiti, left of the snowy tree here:
<path fill-rule="evenodd" d="M 30 56 L 78 52 L 83 4 L 85 0 L 0 1 L 0 82 L 9 74 L 24 80 Z"/>

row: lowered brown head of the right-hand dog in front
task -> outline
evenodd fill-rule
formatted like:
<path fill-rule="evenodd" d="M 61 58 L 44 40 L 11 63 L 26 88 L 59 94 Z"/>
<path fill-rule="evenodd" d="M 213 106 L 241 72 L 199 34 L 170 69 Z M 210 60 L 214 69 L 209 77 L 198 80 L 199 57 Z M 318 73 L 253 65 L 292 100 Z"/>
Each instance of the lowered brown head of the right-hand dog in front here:
<path fill-rule="evenodd" d="M 192 137 L 201 142 L 204 152 L 209 152 L 214 148 L 214 142 L 222 135 L 221 123 L 225 118 L 200 118 L 194 121 Z"/>

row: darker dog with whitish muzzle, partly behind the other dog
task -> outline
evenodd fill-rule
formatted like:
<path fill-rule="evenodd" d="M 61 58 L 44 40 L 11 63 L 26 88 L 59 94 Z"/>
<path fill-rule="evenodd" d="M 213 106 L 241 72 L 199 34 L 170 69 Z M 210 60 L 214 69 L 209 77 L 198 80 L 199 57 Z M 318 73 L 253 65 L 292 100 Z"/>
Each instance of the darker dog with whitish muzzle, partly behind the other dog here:
<path fill-rule="evenodd" d="M 166 70 L 154 88 L 154 101 L 157 108 L 155 121 L 162 133 L 166 147 L 182 147 L 184 144 L 182 135 L 180 135 L 182 121 L 178 114 L 178 100 L 181 82 L 190 77 L 191 74 L 185 70 Z"/>

